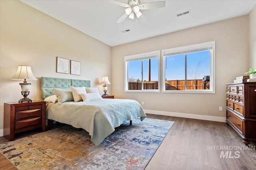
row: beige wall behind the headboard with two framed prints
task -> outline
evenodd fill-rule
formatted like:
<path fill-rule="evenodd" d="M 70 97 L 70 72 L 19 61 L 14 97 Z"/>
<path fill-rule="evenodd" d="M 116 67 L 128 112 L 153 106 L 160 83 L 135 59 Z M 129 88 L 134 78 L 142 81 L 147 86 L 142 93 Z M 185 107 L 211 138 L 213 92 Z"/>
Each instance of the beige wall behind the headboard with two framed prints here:
<path fill-rule="evenodd" d="M 111 82 L 111 47 L 20 1 L 0 0 L 0 136 L 4 102 L 17 102 L 19 83 L 11 80 L 18 65 L 32 67 L 37 81 L 29 98 L 41 100 L 41 76 L 91 80 L 98 87 L 102 76 Z M 104 54 L 104 55 L 102 55 Z M 56 57 L 81 62 L 81 76 L 56 73 Z M 108 88 L 111 94 L 111 85 Z"/>

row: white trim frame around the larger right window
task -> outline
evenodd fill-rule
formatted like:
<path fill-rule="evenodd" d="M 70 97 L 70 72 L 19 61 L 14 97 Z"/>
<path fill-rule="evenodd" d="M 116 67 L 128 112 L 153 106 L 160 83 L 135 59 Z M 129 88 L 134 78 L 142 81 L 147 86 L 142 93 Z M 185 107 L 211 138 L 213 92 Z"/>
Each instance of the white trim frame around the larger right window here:
<path fill-rule="evenodd" d="M 212 76 L 210 76 L 210 87 L 212 87 L 212 89 L 210 89 L 210 90 L 165 90 L 164 52 L 177 51 L 180 49 L 191 48 L 191 47 L 202 46 L 202 45 L 209 45 L 209 44 L 212 45 L 212 57 L 210 60 L 210 75 L 212 75 Z M 162 93 L 206 93 L 206 94 L 210 93 L 210 94 L 215 94 L 215 41 L 199 43 L 199 44 L 194 44 L 194 45 L 187 45 L 187 46 L 176 47 L 176 48 L 171 48 L 171 49 L 164 49 L 164 50 L 162 50 L 161 58 L 162 58 L 162 69 L 161 69 L 161 73 L 162 73 L 161 92 Z"/>

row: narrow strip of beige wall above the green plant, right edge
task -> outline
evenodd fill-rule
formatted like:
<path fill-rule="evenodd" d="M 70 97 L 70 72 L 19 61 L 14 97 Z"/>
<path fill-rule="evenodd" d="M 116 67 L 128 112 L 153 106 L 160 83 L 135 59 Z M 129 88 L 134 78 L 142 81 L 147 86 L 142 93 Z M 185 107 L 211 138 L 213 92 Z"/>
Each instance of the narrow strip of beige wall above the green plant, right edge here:
<path fill-rule="evenodd" d="M 249 14 L 249 68 L 256 68 L 256 5 Z"/>

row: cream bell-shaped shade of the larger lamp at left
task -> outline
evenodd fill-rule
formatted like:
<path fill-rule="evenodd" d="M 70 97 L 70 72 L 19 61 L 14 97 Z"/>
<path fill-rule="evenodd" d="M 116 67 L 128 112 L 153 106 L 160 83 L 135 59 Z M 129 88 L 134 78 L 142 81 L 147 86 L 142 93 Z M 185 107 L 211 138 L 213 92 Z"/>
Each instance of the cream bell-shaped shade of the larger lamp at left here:
<path fill-rule="evenodd" d="M 11 79 L 37 80 L 30 66 L 18 66 L 16 74 Z"/>

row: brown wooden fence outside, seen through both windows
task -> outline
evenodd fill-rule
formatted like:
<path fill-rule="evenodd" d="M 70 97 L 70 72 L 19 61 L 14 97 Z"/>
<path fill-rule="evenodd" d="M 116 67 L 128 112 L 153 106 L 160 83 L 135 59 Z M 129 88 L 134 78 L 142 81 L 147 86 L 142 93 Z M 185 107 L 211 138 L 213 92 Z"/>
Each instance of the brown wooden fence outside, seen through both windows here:
<path fill-rule="evenodd" d="M 129 82 L 128 90 L 141 90 L 142 82 Z M 143 82 L 143 89 L 158 89 L 158 81 Z M 210 82 L 206 83 L 206 88 L 210 89 Z M 166 80 L 165 90 L 185 90 L 185 80 Z M 187 90 L 204 90 L 202 80 L 187 80 Z"/>

